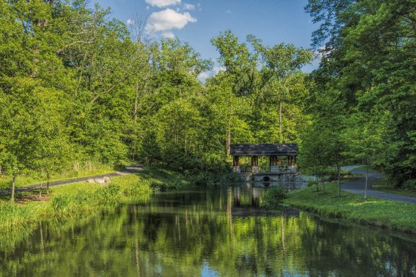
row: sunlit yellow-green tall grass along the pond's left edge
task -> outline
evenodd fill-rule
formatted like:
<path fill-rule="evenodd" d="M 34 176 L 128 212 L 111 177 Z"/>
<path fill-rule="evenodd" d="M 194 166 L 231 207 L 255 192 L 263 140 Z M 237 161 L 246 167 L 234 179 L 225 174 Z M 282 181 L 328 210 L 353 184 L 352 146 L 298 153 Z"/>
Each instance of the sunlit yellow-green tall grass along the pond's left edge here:
<path fill-rule="evenodd" d="M 0 202 L 0 230 L 14 229 L 46 218 L 69 217 L 115 206 L 131 199 L 148 199 L 150 182 L 137 175 L 115 177 L 105 186 L 79 182 L 51 189 L 49 201 L 14 204 Z"/>

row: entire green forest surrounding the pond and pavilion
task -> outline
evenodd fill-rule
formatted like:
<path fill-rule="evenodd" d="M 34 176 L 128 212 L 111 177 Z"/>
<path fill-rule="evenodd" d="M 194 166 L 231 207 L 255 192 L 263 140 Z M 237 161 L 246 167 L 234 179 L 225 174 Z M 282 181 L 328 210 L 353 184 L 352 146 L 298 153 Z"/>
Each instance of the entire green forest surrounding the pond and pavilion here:
<path fill-rule="evenodd" d="M 298 143 L 300 168 L 347 163 L 416 188 L 416 1 L 309 0 L 311 48 L 223 30 L 214 61 L 85 0 L 0 0 L 0 173 L 88 162 L 228 172 L 230 143 Z M 318 69 L 302 66 L 320 59 Z"/>

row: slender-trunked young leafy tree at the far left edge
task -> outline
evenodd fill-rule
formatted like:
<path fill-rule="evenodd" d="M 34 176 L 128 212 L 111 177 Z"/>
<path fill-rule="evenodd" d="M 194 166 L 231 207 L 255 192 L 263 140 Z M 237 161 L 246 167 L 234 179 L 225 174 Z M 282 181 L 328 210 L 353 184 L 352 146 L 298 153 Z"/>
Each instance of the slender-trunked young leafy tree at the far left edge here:
<path fill-rule="evenodd" d="M 6 79 L 3 79 L 6 80 Z M 15 201 L 16 177 L 35 170 L 41 145 L 39 120 L 42 98 L 35 93 L 36 82 L 28 78 L 8 80 L 0 91 L 0 162 L 12 176 L 11 201 Z"/>

